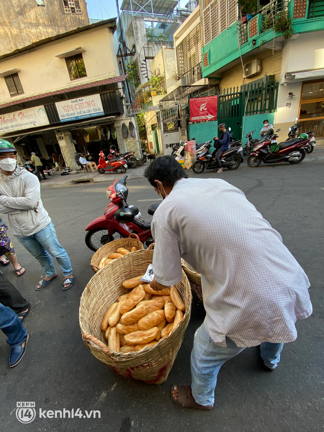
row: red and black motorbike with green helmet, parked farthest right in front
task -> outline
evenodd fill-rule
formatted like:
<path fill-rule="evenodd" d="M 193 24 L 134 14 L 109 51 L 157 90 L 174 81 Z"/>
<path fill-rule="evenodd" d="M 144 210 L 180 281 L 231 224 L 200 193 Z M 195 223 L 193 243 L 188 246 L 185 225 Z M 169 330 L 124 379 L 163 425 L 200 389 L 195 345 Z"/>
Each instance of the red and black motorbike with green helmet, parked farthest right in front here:
<path fill-rule="evenodd" d="M 276 132 L 279 132 L 278 129 Z M 310 142 L 311 137 L 307 134 L 301 134 L 299 138 L 292 138 L 278 144 L 279 149 L 275 153 L 270 151 L 270 144 L 276 144 L 278 135 L 271 136 L 271 141 L 264 141 L 257 144 L 251 155 L 247 158 L 247 164 L 251 167 L 257 167 L 261 162 L 264 163 L 300 163 L 306 156 L 304 147 Z"/>

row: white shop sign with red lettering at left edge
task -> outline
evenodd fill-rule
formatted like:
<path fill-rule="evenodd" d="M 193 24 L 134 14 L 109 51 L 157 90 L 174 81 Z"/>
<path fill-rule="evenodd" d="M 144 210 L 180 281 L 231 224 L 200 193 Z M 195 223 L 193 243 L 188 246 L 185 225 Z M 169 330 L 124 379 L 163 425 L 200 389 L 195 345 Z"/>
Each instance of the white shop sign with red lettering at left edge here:
<path fill-rule="evenodd" d="M 0 114 L 0 134 L 49 125 L 44 106 Z"/>

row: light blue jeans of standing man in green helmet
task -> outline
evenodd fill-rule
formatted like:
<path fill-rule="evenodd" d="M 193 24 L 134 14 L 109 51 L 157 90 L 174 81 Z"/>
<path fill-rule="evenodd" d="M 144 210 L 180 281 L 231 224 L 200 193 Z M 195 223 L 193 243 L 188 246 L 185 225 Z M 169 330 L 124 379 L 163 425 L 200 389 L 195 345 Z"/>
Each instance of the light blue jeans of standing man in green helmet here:
<path fill-rule="evenodd" d="M 70 258 L 64 247 L 58 243 L 52 222 L 38 231 L 38 233 L 28 237 L 17 237 L 17 240 L 38 260 L 47 277 L 52 277 L 56 274 L 50 254 L 56 258 L 58 265 L 62 269 L 63 276 L 72 274 Z"/>

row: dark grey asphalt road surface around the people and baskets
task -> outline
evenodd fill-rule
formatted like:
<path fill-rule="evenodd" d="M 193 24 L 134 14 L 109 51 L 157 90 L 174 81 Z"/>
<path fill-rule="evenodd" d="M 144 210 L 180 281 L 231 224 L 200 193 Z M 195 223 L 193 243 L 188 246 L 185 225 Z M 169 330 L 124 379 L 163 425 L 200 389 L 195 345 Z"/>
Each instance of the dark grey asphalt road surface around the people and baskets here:
<path fill-rule="evenodd" d="M 36 292 L 43 272 L 17 242 L 18 261 L 26 274 L 17 278 L 12 266 L 1 268 L 29 299 L 25 320 L 30 335 L 21 363 L 9 369 L 9 347 L 0 334 L 0 424 L 3 432 L 299 432 L 323 430 L 323 198 L 324 162 L 276 167 L 224 170 L 220 178 L 242 189 L 247 198 L 277 229 L 311 282 L 314 313 L 297 323 L 298 338 L 286 344 L 279 367 L 264 372 L 256 348 L 244 350 L 220 370 L 215 408 L 211 412 L 174 405 L 170 387 L 190 383 L 189 354 L 204 310 L 194 297 L 185 339 L 168 379 L 148 385 L 119 377 L 86 349 L 79 327 L 81 293 L 93 275 L 92 252 L 84 243 L 84 226 L 103 214 L 105 185 L 79 185 L 42 190 L 45 208 L 57 236 L 68 251 L 76 282 L 63 292 L 62 278 Z M 191 173 L 190 175 L 195 176 Z M 203 173 L 200 177 L 215 176 Z M 146 179 L 129 181 L 129 204 L 145 215 L 159 197 Z M 206 197 L 208 200 L 208 197 Z M 5 217 L 4 217 L 5 218 Z M 9 232 L 10 234 L 10 232 Z M 208 233 L 206 233 L 208 236 Z M 258 263 L 255 263 L 257 269 Z M 57 266 L 57 270 L 59 270 Z M 58 271 L 60 274 L 60 272 Z M 17 402 L 35 402 L 36 418 L 22 424 Z M 81 418 L 39 418 L 39 409 L 82 410 Z M 100 418 L 83 418 L 85 410 L 99 410 Z M 80 414 L 80 411 L 79 411 Z M 44 414 L 43 414 L 44 415 Z M 51 415 L 51 414 L 50 414 Z M 45 414 L 46 416 L 46 414 Z"/>

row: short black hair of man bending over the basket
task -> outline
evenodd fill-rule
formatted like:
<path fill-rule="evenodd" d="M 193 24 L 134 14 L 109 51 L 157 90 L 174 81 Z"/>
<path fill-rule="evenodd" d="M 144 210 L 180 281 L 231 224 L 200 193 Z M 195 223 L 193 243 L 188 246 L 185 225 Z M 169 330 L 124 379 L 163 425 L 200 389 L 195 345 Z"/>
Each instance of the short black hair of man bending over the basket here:
<path fill-rule="evenodd" d="M 166 186 L 173 186 L 177 180 L 188 178 L 183 167 L 172 156 L 157 158 L 145 169 L 144 176 L 152 186 L 156 186 L 154 180 L 165 182 Z"/>

